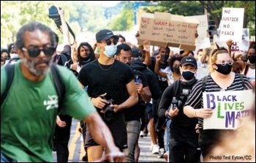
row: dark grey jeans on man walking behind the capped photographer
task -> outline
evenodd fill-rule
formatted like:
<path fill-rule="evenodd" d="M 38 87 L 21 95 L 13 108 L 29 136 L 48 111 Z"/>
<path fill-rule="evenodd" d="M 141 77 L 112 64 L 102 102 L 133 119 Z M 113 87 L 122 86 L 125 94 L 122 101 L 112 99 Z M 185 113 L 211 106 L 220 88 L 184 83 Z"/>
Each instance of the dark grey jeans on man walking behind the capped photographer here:
<path fill-rule="evenodd" d="M 135 145 L 138 143 L 140 136 L 140 121 L 127 121 L 127 145 L 124 149 L 126 162 L 135 162 Z"/>

